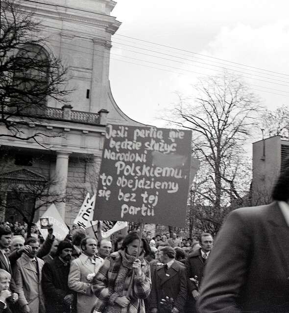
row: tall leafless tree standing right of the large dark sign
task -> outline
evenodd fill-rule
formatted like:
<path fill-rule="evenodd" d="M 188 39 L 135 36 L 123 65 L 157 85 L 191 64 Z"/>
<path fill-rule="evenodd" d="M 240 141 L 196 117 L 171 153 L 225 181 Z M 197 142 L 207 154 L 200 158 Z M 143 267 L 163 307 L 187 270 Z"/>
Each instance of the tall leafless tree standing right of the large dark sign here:
<path fill-rule="evenodd" d="M 232 203 L 242 204 L 249 192 L 251 176 L 243 166 L 248 164 L 243 147 L 261 107 L 241 78 L 226 72 L 200 80 L 194 91 L 193 97 L 179 95 L 164 119 L 193 131 L 193 156 L 201 160 L 193 218 L 203 230 L 216 233 Z"/>

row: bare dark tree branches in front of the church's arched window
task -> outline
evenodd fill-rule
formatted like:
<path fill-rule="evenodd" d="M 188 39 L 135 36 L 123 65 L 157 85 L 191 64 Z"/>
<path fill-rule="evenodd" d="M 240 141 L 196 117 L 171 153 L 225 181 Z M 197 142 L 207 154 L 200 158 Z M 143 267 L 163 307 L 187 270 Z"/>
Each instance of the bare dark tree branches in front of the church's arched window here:
<path fill-rule="evenodd" d="M 44 48 L 41 22 L 13 0 L 1 0 L 0 27 L 0 137 L 37 141 L 47 134 L 23 127 L 45 116 L 49 97 L 66 103 L 68 68 Z"/>

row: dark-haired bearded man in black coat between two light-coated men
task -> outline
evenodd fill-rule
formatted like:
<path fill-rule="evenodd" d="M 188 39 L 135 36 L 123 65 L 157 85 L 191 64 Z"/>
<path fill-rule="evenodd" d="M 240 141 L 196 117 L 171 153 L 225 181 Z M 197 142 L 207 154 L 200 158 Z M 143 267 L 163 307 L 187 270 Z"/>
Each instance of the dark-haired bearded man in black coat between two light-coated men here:
<path fill-rule="evenodd" d="M 43 266 L 42 288 L 46 313 L 72 312 L 76 299 L 74 292 L 68 288 L 72 249 L 70 241 L 61 241 L 57 248 L 57 256 Z"/>

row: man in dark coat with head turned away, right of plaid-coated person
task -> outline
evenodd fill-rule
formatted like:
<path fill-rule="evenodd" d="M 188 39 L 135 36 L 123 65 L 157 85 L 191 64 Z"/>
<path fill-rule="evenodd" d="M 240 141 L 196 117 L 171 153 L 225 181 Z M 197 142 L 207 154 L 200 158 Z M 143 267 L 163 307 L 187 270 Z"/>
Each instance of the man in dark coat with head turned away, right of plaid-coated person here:
<path fill-rule="evenodd" d="M 162 312 L 161 299 L 173 298 L 171 313 L 183 313 L 187 300 L 186 269 L 175 261 L 175 250 L 170 246 L 160 249 L 161 266 L 151 267 L 151 292 L 148 303 L 152 313 Z"/>

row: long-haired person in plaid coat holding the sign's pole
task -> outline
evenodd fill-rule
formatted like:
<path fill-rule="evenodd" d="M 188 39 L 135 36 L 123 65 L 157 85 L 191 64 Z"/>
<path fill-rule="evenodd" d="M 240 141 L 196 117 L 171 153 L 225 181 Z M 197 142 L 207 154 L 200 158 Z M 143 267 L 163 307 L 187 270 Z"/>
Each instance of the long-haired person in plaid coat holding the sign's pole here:
<path fill-rule="evenodd" d="M 93 281 L 97 311 L 145 313 L 144 299 L 151 289 L 150 269 L 144 259 L 150 248 L 145 236 L 137 258 L 138 246 L 139 233 L 131 232 L 124 238 L 122 248 L 104 260 Z"/>

